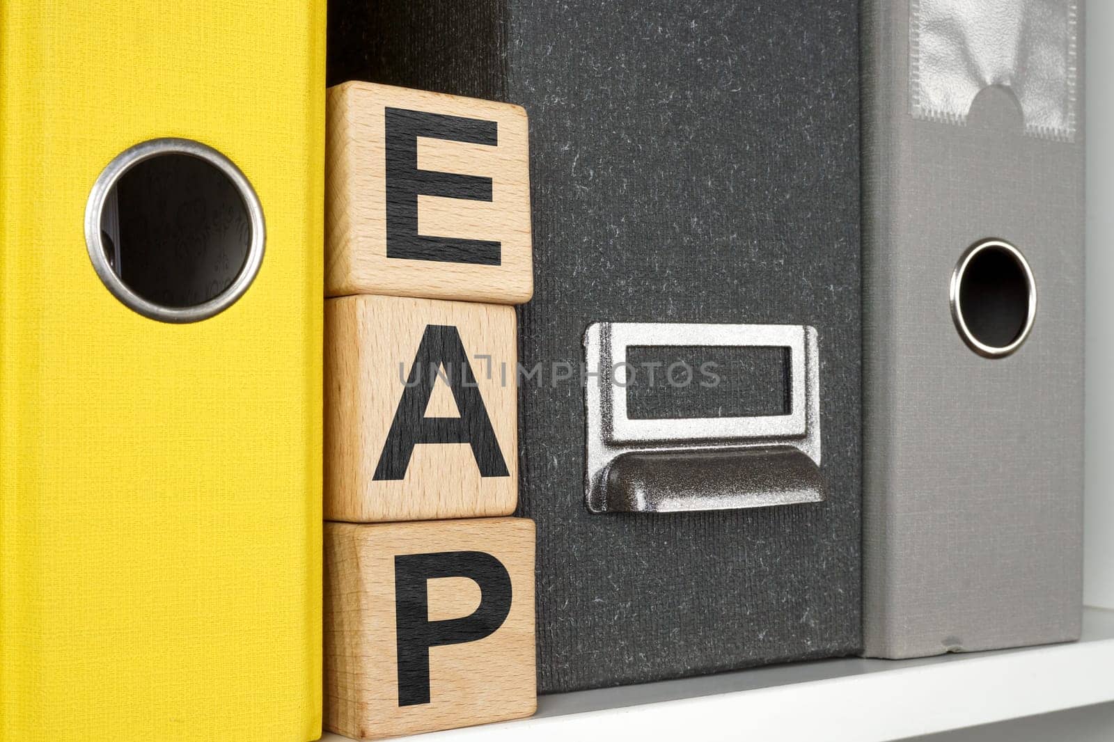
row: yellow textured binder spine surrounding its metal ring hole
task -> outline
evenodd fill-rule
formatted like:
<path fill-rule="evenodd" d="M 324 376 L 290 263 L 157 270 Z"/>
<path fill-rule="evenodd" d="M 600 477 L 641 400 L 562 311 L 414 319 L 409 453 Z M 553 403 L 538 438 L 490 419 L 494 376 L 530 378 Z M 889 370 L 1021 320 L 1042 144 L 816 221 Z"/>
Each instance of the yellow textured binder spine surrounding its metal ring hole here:
<path fill-rule="evenodd" d="M 321 726 L 324 2 L 0 2 L 0 740 Z M 89 191 L 158 137 L 266 221 L 225 312 L 167 324 L 90 264 Z"/>

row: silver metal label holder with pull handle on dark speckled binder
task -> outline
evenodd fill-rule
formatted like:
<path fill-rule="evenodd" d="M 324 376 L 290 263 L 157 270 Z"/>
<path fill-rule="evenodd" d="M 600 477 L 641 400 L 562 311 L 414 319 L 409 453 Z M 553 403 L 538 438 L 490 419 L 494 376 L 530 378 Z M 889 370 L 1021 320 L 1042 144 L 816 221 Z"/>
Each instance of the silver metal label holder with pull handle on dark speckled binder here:
<path fill-rule="evenodd" d="M 694 345 L 788 349 L 788 412 L 633 419 L 627 349 Z M 593 512 L 725 510 L 824 499 L 813 328 L 597 322 L 585 333 L 585 489 Z"/>

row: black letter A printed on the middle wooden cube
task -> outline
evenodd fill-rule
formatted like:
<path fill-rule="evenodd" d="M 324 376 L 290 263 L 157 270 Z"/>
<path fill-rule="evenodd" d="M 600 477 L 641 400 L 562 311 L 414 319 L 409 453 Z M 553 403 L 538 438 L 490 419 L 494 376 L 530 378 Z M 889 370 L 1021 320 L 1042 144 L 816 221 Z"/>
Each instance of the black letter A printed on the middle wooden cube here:
<path fill-rule="evenodd" d="M 452 398 L 460 412 L 458 418 L 426 417 L 437 371 L 442 367 L 447 372 L 442 379 L 452 389 Z M 460 333 L 453 326 L 426 325 L 372 479 L 404 479 L 410 455 L 418 443 L 469 443 L 481 477 L 510 476 L 483 407 L 483 398 L 476 385 L 472 367 L 460 342 Z"/>

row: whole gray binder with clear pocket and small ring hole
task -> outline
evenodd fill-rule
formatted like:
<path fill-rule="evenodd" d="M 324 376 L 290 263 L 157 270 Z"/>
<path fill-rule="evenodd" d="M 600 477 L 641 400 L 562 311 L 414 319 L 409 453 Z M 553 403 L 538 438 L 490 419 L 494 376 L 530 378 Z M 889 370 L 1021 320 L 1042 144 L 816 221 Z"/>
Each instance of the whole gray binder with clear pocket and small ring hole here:
<path fill-rule="evenodd" d="M 1077 638 L 1083 8 L 863 10 L 863 634 Z"/>

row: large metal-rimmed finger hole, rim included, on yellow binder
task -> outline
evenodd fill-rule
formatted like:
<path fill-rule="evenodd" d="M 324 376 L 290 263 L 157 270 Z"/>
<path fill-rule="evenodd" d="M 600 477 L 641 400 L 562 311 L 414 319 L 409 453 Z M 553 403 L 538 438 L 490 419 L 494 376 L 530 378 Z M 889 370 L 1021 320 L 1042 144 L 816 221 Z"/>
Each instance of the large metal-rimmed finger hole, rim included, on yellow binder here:
<path fill-rule="evenodd" d="M 89 196 L 86 242 L 105 285 L 164 322 L 196 322 L 231 306 L 263 257 L 263 213 L 243 173 L 188 139 L 129 148 Z"/>

